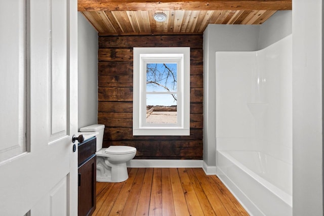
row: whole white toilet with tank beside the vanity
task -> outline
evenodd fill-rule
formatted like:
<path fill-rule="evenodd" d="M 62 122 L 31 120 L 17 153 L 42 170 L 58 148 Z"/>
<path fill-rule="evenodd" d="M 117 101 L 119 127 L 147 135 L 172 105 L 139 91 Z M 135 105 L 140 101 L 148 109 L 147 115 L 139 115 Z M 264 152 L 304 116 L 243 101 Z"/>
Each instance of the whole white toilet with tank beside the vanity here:
<path fill-rule="evenodd" d="M 105 125 L 93 124 L 80 128 L 80 132 L 98 132 L 97 138 L 97 182 L 124 182 L 128 179 L 126 162 L 135 157 L 136 148 L 131 146 L 109 146 L 102 148 Z"/>

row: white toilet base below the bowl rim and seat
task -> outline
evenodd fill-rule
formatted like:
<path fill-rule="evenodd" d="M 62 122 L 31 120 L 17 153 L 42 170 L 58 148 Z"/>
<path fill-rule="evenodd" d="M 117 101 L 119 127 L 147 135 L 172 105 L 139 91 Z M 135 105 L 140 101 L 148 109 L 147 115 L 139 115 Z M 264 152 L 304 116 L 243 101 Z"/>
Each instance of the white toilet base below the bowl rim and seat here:
<path fill-rule="evenodd" d="M 126 163 L 110 163 L 106 157 L 97 156 L 97 182 L 124 182 L 128 179 Z"/>

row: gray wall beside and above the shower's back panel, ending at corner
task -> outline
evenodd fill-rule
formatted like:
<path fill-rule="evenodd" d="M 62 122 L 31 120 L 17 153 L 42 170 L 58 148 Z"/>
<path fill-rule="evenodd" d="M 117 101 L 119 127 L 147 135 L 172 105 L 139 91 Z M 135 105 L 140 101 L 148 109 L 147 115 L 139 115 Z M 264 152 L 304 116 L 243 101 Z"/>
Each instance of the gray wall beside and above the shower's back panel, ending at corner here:
<path fill-rule="evenodd" d="M 204 32 L 204 162 L 216 166 L 216 51 L 255 51 L 260 26 L 209 25 Z"/>

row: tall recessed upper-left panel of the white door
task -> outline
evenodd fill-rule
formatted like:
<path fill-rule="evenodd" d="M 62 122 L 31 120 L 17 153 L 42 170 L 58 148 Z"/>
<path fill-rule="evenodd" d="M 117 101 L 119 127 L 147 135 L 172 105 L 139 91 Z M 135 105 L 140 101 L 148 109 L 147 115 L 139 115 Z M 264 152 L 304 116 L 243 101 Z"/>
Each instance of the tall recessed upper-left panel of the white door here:
<path fill-rule="evenodd" d="M 26 151 L 25 2 L 0 2 L 0 163 Z"/>

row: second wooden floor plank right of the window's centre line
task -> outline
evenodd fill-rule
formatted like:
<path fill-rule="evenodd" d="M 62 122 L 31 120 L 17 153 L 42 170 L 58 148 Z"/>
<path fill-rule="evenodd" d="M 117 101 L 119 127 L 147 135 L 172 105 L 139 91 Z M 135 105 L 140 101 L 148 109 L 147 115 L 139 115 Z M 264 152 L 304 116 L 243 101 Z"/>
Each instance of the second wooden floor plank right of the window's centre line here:
<path fill-rule="evenodd" d="M 170 179 L 173 193 L 174 209 L 177 216 L 189 216 L 189 210 L 186 198 L 182 190 L 182 185 L 178 173 L 178 169 L 170 169 Z"/>

